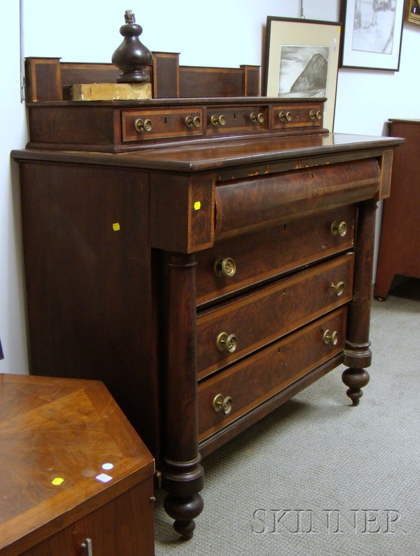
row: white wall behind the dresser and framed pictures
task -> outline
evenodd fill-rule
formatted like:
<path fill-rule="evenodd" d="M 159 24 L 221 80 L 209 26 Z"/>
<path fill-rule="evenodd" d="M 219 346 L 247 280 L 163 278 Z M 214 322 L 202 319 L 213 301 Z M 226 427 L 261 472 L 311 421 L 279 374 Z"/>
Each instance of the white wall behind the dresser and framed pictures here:
<path fill-rule="evenodd" d="M 339 0 L 304 0 L 307 19 L 337 21 Z M 262 64 L 267 15 L 299 17 L 300 0 L 24 0 L 24 55 L 65 61 L 109 62 L 122 37 L 124 11 L 143 26 L 155 51 L 180 53 L 182 65 Z M 26 112 L 19 93 L 19 5 L 0 5 L 3 52 L 0 126 L 1 373 L 27 373 L 18 175 L 10 150 L 25 146 Z M 340 70 L 335 130 L 381 135 L 389 117 L 420 118 L 417 56 L 420 28 L 405 26 L 400 72 Z"/>

